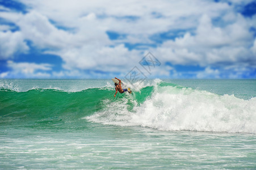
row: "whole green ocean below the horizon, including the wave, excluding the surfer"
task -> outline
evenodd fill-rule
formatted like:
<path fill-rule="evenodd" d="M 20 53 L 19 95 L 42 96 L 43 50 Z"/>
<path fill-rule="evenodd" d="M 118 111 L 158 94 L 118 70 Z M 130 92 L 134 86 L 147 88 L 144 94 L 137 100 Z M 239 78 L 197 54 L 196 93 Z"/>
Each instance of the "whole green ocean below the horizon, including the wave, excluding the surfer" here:
<path fill-rule="evenodd" d="M 256 169 L 256 80 L 127 86 L 0 79 L 0 169 Z"/>

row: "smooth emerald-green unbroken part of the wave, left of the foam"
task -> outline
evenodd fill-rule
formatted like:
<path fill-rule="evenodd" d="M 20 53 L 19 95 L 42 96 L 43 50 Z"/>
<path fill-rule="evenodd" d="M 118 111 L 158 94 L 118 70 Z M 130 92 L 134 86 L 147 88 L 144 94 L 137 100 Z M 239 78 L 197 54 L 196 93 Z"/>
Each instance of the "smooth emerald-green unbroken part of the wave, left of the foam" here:
<path fill-rule="evenodd" d="M 153 91 L 153 86 L 133 91 L 133 95 L 117 94 L 114 88 L 89 88 L 79 92 L 55 89 L 33 89 L 16 92 L 0 90 L 0 125 L 54 128 L 81 120 L 98 112 L 110 103 L 128 98 L 129 111 L 134 102 L 143 103 Z M 106 100 L 108 103 L 106 103 Z M 84 123 L 84 122 L 83 122 Z M 73 127 L 73 126 L 69 126 Z M 62 127 L 63 128 L 63 127 Z"/>

